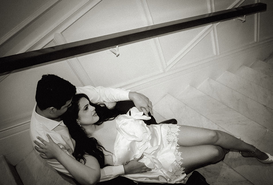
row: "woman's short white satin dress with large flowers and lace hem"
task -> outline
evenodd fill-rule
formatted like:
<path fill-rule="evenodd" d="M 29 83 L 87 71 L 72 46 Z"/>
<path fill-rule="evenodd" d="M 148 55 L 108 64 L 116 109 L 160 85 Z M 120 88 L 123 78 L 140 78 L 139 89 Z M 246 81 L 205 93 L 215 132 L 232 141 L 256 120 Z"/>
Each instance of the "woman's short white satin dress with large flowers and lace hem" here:
<path fill-rule="evenodd" d="M 127 178 L 135 182 L 183 183 L 186 174 L 180 166 L 183 162 L 181 152 L 177 150 L 177 131 L 179 125 L 158 124 L 146 125 L 142 119 L 150 119 L 133 107 L 125 115 L 119 115 L 116 120 L 117 137 L 113 161 L 107 164 L 125 165 L 130 160 L 139 160 L 152 171 L 127 174 Z M 109 154 L 109 153 L 107 153 Z"/>

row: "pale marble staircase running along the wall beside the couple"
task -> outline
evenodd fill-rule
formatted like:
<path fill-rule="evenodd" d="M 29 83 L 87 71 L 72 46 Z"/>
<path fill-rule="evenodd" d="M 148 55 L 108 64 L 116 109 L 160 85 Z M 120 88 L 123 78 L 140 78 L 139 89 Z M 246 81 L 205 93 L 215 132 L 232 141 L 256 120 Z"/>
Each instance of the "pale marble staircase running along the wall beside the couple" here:
<path fill-rule="evenodd" d="M 225 71 L 198 88 L 167 94 L 154 105 L 158 121 L 218 129 L 273 154 L 273 59 Z M 194 134 L 194 133 L 193 133 Z M 230 151 L 223 161 L 198 169 L 209 184 L 273 184 L 273 164 Z"/>

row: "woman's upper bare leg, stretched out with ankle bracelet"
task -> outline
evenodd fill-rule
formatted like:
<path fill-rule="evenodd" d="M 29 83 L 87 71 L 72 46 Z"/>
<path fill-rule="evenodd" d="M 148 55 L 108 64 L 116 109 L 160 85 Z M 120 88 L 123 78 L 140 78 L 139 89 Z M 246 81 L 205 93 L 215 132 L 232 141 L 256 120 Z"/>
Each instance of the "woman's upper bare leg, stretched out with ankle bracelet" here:
<path fill-rule="evenodd" d="M 217 145 L 225 149 L 235 149 L 246 152 L 253 152 L 255 149 L 253 145 L 245 143 L 241 139 L 223 131 L 185 125 L 179 126 L 180 131 L 178 132 L 179 135 L 177 135 L 177 143 L 180 146 Z M 259 149 L 257 149 L 255 153 L 247 154 L 245 157 L 256 157 L 260 160 L 266 160 L 268 158 L 268 156 Z"/>

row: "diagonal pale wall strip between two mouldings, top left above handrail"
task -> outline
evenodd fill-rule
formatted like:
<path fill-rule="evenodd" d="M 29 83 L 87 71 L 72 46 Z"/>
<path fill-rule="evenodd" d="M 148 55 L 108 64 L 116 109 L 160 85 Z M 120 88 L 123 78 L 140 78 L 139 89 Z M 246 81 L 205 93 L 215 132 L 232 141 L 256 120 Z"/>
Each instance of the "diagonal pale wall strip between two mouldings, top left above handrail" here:
<path fill-rule="evenodd" d="M 0 56 L 8 56 L 20 52 L 26 52 L 44 36 L 49 34 L 58 25 L 65 21 L 65 19 L 75 13 L 75 11 L 82 7 L 82 5 L 84 5 L 87 1 L 88 0 L 60 1 L 41 17 L 35 19 L 35 21 L 33 21 L 25 29 L 16 33 L 16 35 L 12 37 L 9 42 L 0 46 Z"/>

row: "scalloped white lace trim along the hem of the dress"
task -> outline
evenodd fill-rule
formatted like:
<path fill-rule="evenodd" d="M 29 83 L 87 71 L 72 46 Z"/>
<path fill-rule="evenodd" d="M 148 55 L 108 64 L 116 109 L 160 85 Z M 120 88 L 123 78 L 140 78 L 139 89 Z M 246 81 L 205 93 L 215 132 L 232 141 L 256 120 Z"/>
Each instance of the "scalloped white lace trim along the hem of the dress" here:
<path fill-rule="evenodd" d="M 168 124 L 168 131 L 167 131 L 167 141 L 168 141 L 168 144 L 172 143 L 172 142 L 175 142 L 177 144 L 177 135 L 179 135 L 178 131 L 179 130 L 179 125 L 174 125 L 174 124 Z M 176 159 L 176 162 L 175 162 L 175 169 L 172 173 L 172 178 L 175 179 L 179 176 L 181 176 L 182 174 L 184 174 L 184 169 L 183 167 L 181 167 L 181 165 L 183 164 L 183 162 L 181 162 L 181 160 L 183 158 L 181 158 L 181 152 L 178 151 L 178 146 L 176 146 L 175 148 L 175 159 Z"/>

